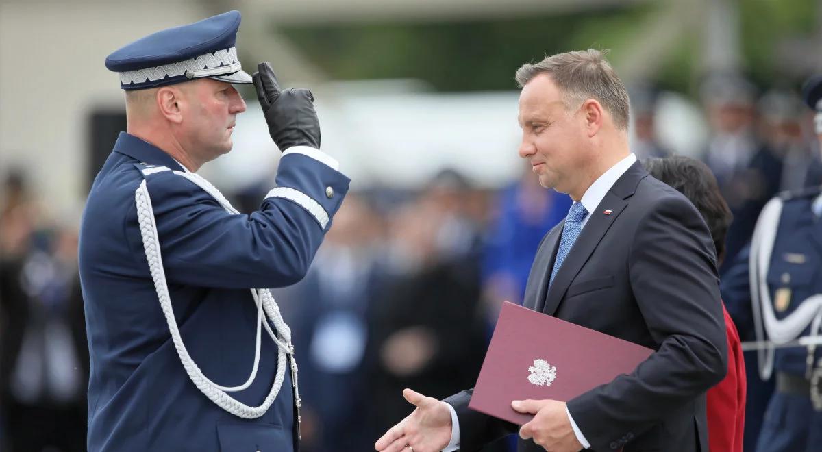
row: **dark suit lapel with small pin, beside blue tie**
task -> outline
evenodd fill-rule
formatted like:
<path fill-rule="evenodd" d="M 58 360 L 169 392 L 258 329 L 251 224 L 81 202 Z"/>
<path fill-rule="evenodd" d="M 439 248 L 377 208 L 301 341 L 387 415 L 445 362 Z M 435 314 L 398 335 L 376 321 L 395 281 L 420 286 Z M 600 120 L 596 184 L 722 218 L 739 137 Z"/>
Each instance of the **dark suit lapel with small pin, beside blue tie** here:
<path fill-rule="evenodd" d="M 556 313 L 556 308 L 559 307 L 562 297 L 570 286 L 571 281 L 574 280 L 577 274 L 582 270 L 585 262 L 596 249 L 599 242 L 602 241 L 608 228 L 616 221 L 617 217 L 625 210 L 628 203 L 625 201 L 632 196 L 636 191 L 636 186 L 640 180 L 648 176 L 644 168 L 639 162 L 631 165 L 628 170 L 617 179 L 611 190 L 609 190 L 603 201 L 599 203 L 597 209 L 590 214 L 588 223 L 585 224 L 580 237 L 576 239 L 574 247 L 570 249 L 566 260 L 562 263 L 560 270 L 556 272 L 556 277 L 547 291 L 545 305 L 543 306 L 543 313 L 553 316 Z M 605 214 L 605 210 L 611 210 L 609 214 Z M 548 265 L 548 274 L 550 274 L 550 265 Z M 547 287 L 545 280 L 545 287 Z"/>

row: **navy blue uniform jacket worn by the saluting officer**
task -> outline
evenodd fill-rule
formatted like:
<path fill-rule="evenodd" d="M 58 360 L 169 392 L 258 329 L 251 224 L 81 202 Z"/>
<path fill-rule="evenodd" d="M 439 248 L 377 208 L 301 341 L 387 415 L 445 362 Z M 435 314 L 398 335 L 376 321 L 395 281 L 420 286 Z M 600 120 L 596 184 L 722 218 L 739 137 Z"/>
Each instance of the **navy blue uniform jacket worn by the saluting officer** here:
<path fill-rule="evenodd" d="M 184 371 L 138 226 L 134 194 L 144 180 L 141 163 L 184 170 L 154 145 L 121 133 L 95 178 L 81 224 L 91 358 L 89 450 L 293 450 L 289 371 L 275 403 L 256 419 L 219 408 Z M 242 385 L 255 351 L 256 306 L 248 288 L 302 279 L 330 224 L 321 227 L 315 215 L 283 197 L 262 200 L 252 214 L 229 214 L 173 171 L 145 180 L 182 339 L 211 381 Z M 349 179 L 307 155 L 289 154 L 279 164 L 276 184 L 301 191 L 331 216 Z M 260 405 L 274 381 L 276 360 L 276 345 L 263 334 L 256 381 L 230 394 Z"/>

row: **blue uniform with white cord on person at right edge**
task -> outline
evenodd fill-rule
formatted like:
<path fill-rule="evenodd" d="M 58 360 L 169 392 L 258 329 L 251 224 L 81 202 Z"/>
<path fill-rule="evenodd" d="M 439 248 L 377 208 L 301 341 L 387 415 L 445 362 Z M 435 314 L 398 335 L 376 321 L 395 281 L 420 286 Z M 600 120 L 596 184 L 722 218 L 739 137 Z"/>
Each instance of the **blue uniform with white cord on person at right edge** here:
<path fill-rule="evenodd" d="M 764 316 L 764 309 L 770 309 L 777 321 L 784 321 L 797 312 L 803 303 L 815 303 L 813 297 L 822 293 L 822 223 L 820 223 L 820 188 L 815 187 L 792 195 L 781 196 L 782 210 L 776 219 L 778 228 L 775 236 L 767 238 L 755 236 L 757 247 L 773 242 L 773 251 L 767 266 L 761 270 L 764 281 L 757 277 L 757 284 L 764 284 L 769 306 L 755 297 L 753 310 L 750 309 L 751 296 L 748 250 L 741 252 L 726 277 L 723 278 L 723 300 L 734 320 L 748 331 L 754 330 L 758 316 Z M 772 205 L 774 201 L 769 203 Z M 764 212 L 769 207 L 766 206 Z M 763 214 L 763 218 L 767 217 Z M 760 219 L 760 224 L 764 220 Z M 758 225 L 758 228 L 760 226 Z M 759 252 L 751 253 L 753 258 Z M 807 308 L 807 307 L 806 307 Z M 818 308 L 817 308 L 818 309 Z M 820 311 L 822 312 L 822 311 Z M 818 334 L 812 321 L 801 322 L 804 330 L 793 334 L 796 337 Z M 793 339 L 796 339 L 794 337 Z M 780 342 L 784 342 L 780 340 Z M 769 355 L 773 353 L 773 355 Z M 812 357 L 812 362 L 809 360 Z M 754 357 L 750 353 L 746 357 Z M 760 353 L 760 369 L 768 376 L 771 369 L 775 374 L 775 391 L 764 413 L 756 450 L 761 452 L 811 451 L 820 450 L 822 444 L 822 406 L 814 407 L 811 402 L 812 386 L 810 372 L 822 371 L 822 348 L 806 347 L 776 348 L 773 352 Z M 750 375 L 759 372 L 750 369 Z M 818 390 L 818 388 L 816 389 Z M 757 393 L 752 394 L 753 398 Z M 751 402 L 749 398 L 749 403 Z M 756 400 L 753 400 L 756 404 Z M 753 413 L 755 414 L 755 413 Z M 749 419 L 746 418 L 746 423 Z M 747 426 L 746 426 L 747 427 Z"/>

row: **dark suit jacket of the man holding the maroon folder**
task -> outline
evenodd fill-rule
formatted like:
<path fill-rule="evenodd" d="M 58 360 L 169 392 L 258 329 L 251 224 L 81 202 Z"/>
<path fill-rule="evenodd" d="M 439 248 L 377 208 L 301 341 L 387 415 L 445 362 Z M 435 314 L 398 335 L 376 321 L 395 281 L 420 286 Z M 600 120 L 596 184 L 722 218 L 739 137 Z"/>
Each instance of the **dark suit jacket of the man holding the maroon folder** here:
<path fill-rule="evenodd" d="M 725 376 L 727 344 L 701 215 L 636 163 L 590 214 L 548 290 L 563 224 L 539 246 L 524 306 L 656 350 L 630 375 L 568 401 L 580 431 L 593 450 L 707 451 L 704 394 Z M 446 399 L 461 450 L 516 431 L 469 410 L 471 392 Z M 520 440 L 520 450 L 543 449 Z"/>

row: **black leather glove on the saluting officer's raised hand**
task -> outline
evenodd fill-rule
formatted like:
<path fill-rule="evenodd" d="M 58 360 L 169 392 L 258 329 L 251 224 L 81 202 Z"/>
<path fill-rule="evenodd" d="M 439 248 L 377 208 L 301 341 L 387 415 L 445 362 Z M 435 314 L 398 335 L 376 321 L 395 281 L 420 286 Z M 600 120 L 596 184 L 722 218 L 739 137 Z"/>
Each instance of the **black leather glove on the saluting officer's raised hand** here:
<path fill-rule="evenodd" d="M 266 115 L 268 132 L 279 150 L 293 146 L 320 149 L 320 121 L 314 110 L 314 96 L 309 90 L 280 90 L 269 62 L 257 65 L 252 75 L 257 99 Z"/>

